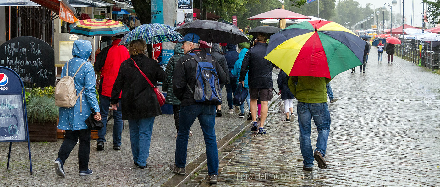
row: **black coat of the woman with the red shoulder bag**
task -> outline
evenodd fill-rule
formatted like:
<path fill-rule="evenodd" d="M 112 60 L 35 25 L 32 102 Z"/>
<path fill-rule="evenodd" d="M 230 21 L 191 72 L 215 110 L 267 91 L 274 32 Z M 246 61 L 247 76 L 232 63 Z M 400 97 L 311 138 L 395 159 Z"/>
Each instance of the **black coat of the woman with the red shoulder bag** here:
<path fill-rule="evenodd" d="M 142 72 L 156 86 L 165 80 L 165 71 L 157 61 L 147 58 L 144 54 L 131 56 Z M 122 119 L 143 119 L 162 114 L 158 98 L 153 88 L 134 65 L 132 59 L 122 62 L 116 81 L 111 91 L 111 104 L 118 102 L 122 90 Z"/>

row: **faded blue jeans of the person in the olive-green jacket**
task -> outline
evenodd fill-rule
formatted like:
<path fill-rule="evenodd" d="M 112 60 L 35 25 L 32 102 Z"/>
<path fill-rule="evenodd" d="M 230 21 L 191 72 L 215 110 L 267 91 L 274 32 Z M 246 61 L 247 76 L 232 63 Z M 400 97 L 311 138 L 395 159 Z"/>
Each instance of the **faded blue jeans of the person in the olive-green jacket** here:
<path fill-rule="evenodd" d="M 305 167 L 313 166 L 313 153 L 319 151 L 326 155 L 327 139 L 330 133 L 330 112 L 327 103 L 303 103 L 298 101 L 298 124 L 300 127 L 300 147 Z M 310 132 L 312 131 L 312 118 L 318 129 L 316 149 L 312 149 Z"/>

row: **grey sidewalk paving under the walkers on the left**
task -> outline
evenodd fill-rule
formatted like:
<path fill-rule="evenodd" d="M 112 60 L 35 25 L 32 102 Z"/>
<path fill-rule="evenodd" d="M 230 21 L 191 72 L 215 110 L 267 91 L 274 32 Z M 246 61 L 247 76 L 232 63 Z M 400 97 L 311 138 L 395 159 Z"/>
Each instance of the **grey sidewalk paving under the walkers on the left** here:
<path fill-rule="evenodd" d="M 226 94 L 225 90 L 224 94 Z M 226 100 L 222 105 L 223 117 L 216 118 L 216 138 L 220 140 L 230 133 L 245 119 L 238 114 L 227 114 Z M 114 151 L 112 144 L 113 120 L 107 128 L 105 151 L 96 151 L 96 140 L 91 141 L 89 168 L 93 169 L 91 176 L 78 176 L 78 146 L 76 146 L 64 165 L 66 177 L 55 174 L 53 162 L 57 158 L 62 140 L 57 142 L 31 142 L 33 175 L 29 174 L 29 157 L 26 142 L 12 143 L 11 163 L 6 170 L 8 143 L 0 144 L 0 186 L 1 187 L 132 187 L 160 186 L 174 173 L 168 169 L 169 163 L 174 162 L 176 146 L 176 129 L 173 115 L 156 117 L 151 138 L 150 157 L 146 169 L 134 167 L 130 149 L 128 122 L 122 131 L 120 151 Z M 198 158 L 205 152 L 202 130 L 196 120 L 191 128 L 194 136 L 188 141 L 187 163 Z"/>

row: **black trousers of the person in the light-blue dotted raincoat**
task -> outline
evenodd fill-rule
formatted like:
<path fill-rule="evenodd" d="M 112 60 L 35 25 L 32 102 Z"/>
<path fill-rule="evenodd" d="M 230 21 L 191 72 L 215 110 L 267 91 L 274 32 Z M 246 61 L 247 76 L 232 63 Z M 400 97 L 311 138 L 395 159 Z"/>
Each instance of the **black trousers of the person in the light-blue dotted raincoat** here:
<path fill-rule="evenodd" d="M 59 148 L 58 158 L 64 164 L 73 147 L 77 144 L 78 139 L 80 140 L 78 166 L 80 171 L 85 171 L 88 169 L 88 160 L 90 158 L 90 129 L 66 130 L 66 138 Z"/>

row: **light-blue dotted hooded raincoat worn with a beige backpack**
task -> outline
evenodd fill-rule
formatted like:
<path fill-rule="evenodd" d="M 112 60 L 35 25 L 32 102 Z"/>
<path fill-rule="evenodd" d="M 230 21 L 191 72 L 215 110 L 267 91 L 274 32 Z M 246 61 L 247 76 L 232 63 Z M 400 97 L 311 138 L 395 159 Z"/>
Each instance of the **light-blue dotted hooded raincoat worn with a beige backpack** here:
<path fill-rule="evenodd" d="M 92 43 L 87 40 L 76 40 L 73 43 L 72 55 L 69 60 L 69 76 L 73 76 L 83 62 L 87 62 L 92 54 Z M 61 78 L 66 76 L 66 65 L 62 68 Z M 90 62 L 85 63 L 73 78 L 75 89 L 79 94 L 84 87 L 82 96 L 82 112 L 80 112 L 80 97 L 77 103 L 71 108 L 59 108 L 58 129 L 63 130 L 81 130 L 87 129 L 85 120 L 90 116 L 90 108 L 99 112 L 98 100 L 95 93 L 95 70 Z"/>

